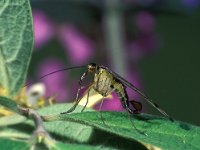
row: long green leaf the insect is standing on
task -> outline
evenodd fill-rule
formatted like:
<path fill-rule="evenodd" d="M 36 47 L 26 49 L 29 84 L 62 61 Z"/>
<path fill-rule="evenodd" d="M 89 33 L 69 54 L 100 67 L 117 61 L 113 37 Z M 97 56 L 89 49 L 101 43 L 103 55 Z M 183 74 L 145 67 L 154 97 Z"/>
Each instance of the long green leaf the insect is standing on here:
<path fill-rule="evenodd" d="M 171 122 L 167 119 L 152 115 L 134 115 L 132 122 L 135 127 L 147 135 L 141 134 L 133 128 L 129 117 L 120 112 L 84 112 L 60 115 L 60 119 L 79 122 L 101 130 L 117 134 L 127 139 L 148 143 L 163 149 L 200 149 L 200 127 L 184 122 Z"/>

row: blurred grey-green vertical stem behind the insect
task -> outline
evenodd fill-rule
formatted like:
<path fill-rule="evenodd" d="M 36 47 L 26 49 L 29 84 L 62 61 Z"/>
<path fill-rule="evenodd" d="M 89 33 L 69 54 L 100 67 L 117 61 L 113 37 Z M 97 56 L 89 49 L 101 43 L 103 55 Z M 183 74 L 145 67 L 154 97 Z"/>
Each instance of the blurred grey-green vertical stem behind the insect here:
<path fill-rule="evenodd" d="M 113 70 L 121 76 L 126 74 L 124 27 L 121 0 L 106 0 L 104 33 Z"/>

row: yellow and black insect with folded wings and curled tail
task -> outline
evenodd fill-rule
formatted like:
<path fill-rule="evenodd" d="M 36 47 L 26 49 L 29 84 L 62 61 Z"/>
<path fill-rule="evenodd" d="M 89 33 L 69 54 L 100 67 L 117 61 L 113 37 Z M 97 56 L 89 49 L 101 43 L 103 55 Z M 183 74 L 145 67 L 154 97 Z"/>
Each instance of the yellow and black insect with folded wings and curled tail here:
<path fill-rule="evenodd" d="M 130 82 L 128 82 L 127 80 L 125 80 L 124 78 L 122 78 L 120 75 L 110 70 L 109 68 L 105 66 L 98 66 L 95 63 L 90 63 L 87 65 L 86 71 L 82 74 L 79 80 L 79 89 L 77 92 L 75 104 L 68 111 L 63 112 L 61 114 L 70 113 L 76 109 L 76 106 L 80 102 L 79 93 L 80 90 L 82 89 L 82 82 L 84 78 L 90 73 L 94 74 L 94 79 L 88 88 L 87 97 L 89 97 L 91 89 L 94 89 L 96 92 L 101 94 L 103 98 L 110 95 L 112 92 L 116 92 L 121 101 L 122 107 L 129 114 L 139 114 L 142 110 L 142 104 L 135 100 L 129 100 L 128 94 L 126 92 L 126 88 L 129 87 L 138 94 L 140 94 L 148 103 L 150 103 L 153 107 L 155 107 L 161 114 L 163 114 L 165 117 L 173 121 L 173 119 L 164 110 L 162 110 L 155 102 L 149 99 L 143 92 L 141 92 L 133 84 L 131 84 Z M 130 107 L 129 103 L 132 104 L 134 110 Z M 88 104 L 88 98 L 82 111 L 85 109 L 87 104 Z"/>

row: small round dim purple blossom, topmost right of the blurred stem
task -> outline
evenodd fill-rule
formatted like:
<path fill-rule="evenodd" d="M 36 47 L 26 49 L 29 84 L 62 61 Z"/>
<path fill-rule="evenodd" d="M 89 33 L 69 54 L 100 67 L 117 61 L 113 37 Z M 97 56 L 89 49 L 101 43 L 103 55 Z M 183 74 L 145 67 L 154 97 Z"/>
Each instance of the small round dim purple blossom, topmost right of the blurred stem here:
<path fill-rule="evenodd" d="M 135 16 L 136 27 L 143 33 L 152 33 L 155 28 L 154 17 L 145 11 L 139 12 Z"/>

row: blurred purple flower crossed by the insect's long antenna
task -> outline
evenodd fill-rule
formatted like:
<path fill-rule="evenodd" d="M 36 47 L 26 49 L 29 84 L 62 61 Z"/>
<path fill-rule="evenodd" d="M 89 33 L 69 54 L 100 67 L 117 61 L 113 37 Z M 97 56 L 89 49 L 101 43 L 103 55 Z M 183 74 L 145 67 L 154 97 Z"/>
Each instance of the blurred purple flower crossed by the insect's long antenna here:
<path fill-rule="evenodd" d="M 38 78 L 48 74 L 52 71 L 63 68 L 64 64 L 55 59 L 45 60 L 38 69 Z M 51 76 L 47 76 L 42 79 L 42 82 L 46 86 L 46 96 L 57 95 L 58 101 L 65 101 L 68 96 L 67 86 L 66 86 L 66 75 L 63 72 L 55 73 Z"/>

